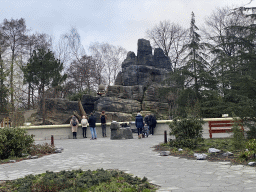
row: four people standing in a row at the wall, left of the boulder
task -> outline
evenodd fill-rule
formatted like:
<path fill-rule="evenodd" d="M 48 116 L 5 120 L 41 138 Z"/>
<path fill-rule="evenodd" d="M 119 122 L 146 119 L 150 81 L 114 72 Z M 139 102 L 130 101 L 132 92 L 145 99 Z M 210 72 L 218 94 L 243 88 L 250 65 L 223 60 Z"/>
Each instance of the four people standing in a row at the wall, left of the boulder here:
<path fill-rule="evenodd" d="M 105 111 L 102 111 L 100 115 L 100 120 L 101 120 L 101 127 L 102 127 L 102 137 L 107 137 L 106 135 L 106 122 L 107 122 L 107 116 L 105 115 Z M 86 131 L 87 127 L 90 127 L 91 131 L 91 140 L 97 139 L 97 132 L 96 132 L 96 117 L 94 116 L 93 113 L 91 113 L 89 119 L 87 120 L 86 116 L 82 117 L 81 120 L 81 125 L 83 129 L 83 138 L 86 137 Z M 79 125 L 79 121 L 75 115 L 72 116 L 70 120 L 70 126 L 71 126 L 71 131 L 73 133 L 73 139 L 77 139 L 77 128 Z"/>

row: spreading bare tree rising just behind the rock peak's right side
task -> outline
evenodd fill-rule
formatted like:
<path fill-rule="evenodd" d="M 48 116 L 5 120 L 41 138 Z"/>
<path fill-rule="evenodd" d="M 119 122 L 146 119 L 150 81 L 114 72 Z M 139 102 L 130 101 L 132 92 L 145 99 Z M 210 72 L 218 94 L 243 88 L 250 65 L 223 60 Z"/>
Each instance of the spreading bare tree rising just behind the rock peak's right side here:
<path fill-rule="evenodd" d="M 161 21 L 152 29 L 147 30 L 146 34 L 155 48 L 163 49 L 165 55 L 170 57 L 176 69 L 179 65 L 182 47 L 188 42 L 188 31 L 170 21 Z"/>

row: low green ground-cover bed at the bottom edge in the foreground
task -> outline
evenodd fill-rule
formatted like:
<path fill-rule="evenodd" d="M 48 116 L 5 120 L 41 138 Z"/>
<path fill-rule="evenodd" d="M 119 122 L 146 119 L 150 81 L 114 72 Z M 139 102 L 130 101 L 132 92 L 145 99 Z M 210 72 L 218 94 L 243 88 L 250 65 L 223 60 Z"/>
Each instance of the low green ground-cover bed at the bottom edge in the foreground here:
<path fill-rule="evenodd" d="M 60 171 L 48 172 L 39 175 L 28 175 L 25 178 L 6 181 L 0 185 L 0 191 L 125 191 L 151 192 L 158 187 L 150 184 L 147 178 L 140 179 L 118 170 L 96 171 Z"/>

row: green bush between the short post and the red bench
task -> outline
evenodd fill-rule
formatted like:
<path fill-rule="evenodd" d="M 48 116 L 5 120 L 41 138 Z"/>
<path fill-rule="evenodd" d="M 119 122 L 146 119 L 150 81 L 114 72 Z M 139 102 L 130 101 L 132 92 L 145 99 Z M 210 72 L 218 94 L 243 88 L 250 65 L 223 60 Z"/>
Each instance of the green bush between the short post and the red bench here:
<path fill-rule="evenodd" d="M 202 124 L 204 122 L 194 117 L 175 118 L 170 123 L 170 135 L 175 136 L 175 140 L 170 141 L 171 147 L 187 147 L 194 149 L 198 142 L 203 141 Z"/>

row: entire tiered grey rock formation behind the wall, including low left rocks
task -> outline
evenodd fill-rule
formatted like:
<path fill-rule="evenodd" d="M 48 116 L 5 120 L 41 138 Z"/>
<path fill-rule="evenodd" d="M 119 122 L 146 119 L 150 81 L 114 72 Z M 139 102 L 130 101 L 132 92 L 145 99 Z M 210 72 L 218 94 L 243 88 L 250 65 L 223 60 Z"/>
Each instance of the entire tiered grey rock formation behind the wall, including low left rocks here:
<path fill-rule="evenodd" d="M 170 59 L 163 50 L 157 48 L 152 54 L 150 42 L 139 39 L 137 56 L 128 52 L 115 85 L 108 86 L 105 96 L 84 95 L 81 100 L 83 109 L 87 114 L 94 111 L 98 122 L 102 110 L 106 112 L 108 121 L 131 121 L 138 111 L 151 111 L 157 115 L 167 113 L 168 100 L 159 89 L 171 71 Z M 47 99 L 46 104 L 48 116 L 53 109 L 58 111 L 56 120 L 64 120 L 73 111 L 79 111 L 78 102 Z"/>

